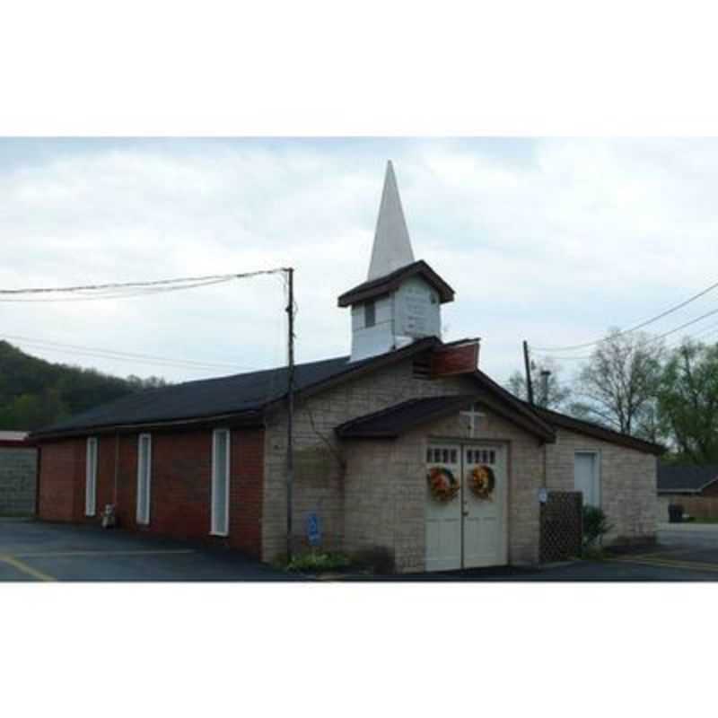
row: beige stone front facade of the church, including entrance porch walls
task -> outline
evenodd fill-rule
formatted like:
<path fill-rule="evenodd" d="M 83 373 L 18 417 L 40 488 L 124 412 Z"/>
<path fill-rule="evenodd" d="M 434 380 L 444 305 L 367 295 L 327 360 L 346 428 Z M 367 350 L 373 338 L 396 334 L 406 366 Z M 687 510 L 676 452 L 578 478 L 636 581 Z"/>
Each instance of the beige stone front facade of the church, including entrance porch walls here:
<path fill-rule="evenodd" d="M 412 360 L 383 371 L 343 383 L 309 398 L 295 414 L 294 543 L 302 547 L 302 533 L 310 512 L 317 512 L 324 528 L 325 547 L 356 548 L 370 530 L 395 554 L 400 570 L 421 570 L 425 560 L 425 443 L 423 438 L 399 442 L 339 442 L 334 427 L 343 422 L 390 407 L 407 398 L 477 393 L 477 384 L 467 377 L 416 379 Z M 459 422 L 459 416 L 454 419 Z M 465 422 L 468 420 L 465 420 Z M 447 428 L 446 431 L 449 431 Z M 423 427 L 418 436 L 425 437 Z M 510 485 L 509 555 L 512 563 L 538 560 L 537 490 L 543 472 L 543 454 L 537 439 L 497 416 L 487 419 L 480 438 L 512 442 Z M 467 435 L 467 425 L 454 425 L 454 438 Z M 477 437 L 479 438 L 479 437 Z M 267 468 L 263 523 L 263 558 L 274 560 L 285 553 L 285 416 L 267 423 Z M 372 451 L 377 453 L 374 455 Z M 349 460 L 362 458 L 354 477 L 345 477 Z M 355 491 L 366 476 L 387 475 L 387 462 L 398 466 L 408 483 L 384 480 L 369 495 Z M 511 463 L 513 462 L 513 463 Z M 411 469 L 409 470 L 409 467 Z M 354 470 L 354 469 L 352 469 Z M 396 476 L 392 474 L 392 481 Z M 412 482 L 417 482 L 416 486 Z M 412 488 L 413 486 L 413 488 Z M 365 488 L 365 487 L 364 487 Z M 391 494 L 390 492 L 398 492 Z M 383 493 L 382 493 L 383 492 Z M 388 492 L 388 493 L 387 493 Z M 388 502 L 388 504 L 387 504 Z M 388 508 L 389 507 L 391 508 Z M 390 512 L 396 505 L 400 515 Z M 348 523 L 347 523 L 348 522 Z M 346 540 L 346 530 L 350 535 Z M 394 528 L 396 527 L 396 528 Z M 377 539 L 379 540 L 379 538 Z"/>

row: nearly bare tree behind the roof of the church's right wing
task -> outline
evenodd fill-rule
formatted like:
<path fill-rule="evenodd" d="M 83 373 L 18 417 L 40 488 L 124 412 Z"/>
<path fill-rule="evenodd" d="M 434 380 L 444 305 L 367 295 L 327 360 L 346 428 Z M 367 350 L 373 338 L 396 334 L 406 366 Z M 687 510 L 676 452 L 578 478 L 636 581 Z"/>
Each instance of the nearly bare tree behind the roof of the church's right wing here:
<path fill-rule="evenodd" d="M 574 414 L 656 441 L 656 395 L 665 350 L 649 335 L 612 329 L 576 381 Z"/>

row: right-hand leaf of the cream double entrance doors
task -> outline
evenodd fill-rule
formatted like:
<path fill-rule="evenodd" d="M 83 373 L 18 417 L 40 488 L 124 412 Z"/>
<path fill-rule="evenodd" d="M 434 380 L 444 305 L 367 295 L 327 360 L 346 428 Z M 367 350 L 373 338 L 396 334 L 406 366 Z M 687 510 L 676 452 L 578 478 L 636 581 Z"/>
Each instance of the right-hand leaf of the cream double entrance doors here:
<path fill-rule="evenodd" d="M 463 447 L 464 568 L 503 565 L 506 554 L 506 460 L 502 446 Z M 471 471 L 486 466 L 494 472 L 490 495 L 477 496 L 471 488 Z"/>

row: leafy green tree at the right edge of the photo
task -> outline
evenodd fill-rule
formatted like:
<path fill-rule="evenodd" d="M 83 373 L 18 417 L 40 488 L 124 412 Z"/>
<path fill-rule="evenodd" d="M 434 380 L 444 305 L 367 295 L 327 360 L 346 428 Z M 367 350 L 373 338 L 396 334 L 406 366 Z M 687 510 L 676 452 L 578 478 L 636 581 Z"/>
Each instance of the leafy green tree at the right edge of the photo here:
<path fill-rule="evenodd" d="M 718 461 L 718 346 L 685 341 L 671 352 L 661 374 L 658 410 L 680 459 Z"/>

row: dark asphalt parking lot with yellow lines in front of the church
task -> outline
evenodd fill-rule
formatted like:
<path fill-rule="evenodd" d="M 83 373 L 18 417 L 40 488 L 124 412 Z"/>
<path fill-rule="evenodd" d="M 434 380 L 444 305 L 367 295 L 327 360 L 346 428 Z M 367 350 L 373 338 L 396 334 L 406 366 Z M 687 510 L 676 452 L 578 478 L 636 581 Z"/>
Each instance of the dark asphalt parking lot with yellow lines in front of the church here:
<path fill-rule="evenodd" d="M 334 576 L 344 581 L 696 582 L 718 581 L 718 546 L 655 546 L 540 567 L 436 574 Z M 0 519 L 0 582 L 264 582 L 293 576 L 242 556 L 121 530 Z"/>

